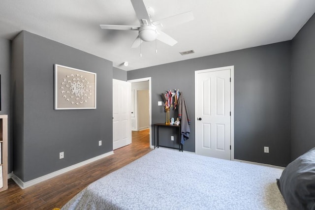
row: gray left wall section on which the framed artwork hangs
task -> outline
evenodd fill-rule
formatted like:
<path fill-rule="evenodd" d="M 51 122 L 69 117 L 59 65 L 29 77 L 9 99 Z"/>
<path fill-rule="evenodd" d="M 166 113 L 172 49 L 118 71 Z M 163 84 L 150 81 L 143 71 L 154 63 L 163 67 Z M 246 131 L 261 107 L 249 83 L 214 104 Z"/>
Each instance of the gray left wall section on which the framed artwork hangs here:
<path fill-rule="evenodd" d="M 14 174 L 29 181 L 111 151 L 112 62 L 27 31 L 12 51 Z M 55 63 L 97 74 L 97 109 L 54 110 Z"/>

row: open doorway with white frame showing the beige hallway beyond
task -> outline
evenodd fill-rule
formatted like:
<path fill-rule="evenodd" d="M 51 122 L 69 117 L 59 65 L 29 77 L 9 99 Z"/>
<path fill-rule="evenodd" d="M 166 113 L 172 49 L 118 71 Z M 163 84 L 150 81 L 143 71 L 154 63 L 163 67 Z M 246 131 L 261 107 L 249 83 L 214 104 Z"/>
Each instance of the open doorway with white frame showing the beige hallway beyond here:
<path fill-rule="evenodd" d="M 131 83 L 131 130 L 132 138 L 149 130 L 149 147 L 152 146 L 151 77 L 127 80 Z"/>

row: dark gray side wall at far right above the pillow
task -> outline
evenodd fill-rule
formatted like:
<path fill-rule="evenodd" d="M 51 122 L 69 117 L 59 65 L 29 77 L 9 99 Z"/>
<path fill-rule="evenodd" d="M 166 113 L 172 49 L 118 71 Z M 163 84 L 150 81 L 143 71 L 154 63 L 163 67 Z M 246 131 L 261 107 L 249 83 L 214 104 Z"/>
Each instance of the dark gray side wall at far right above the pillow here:
<path fill-rule="evenodd" d="M 292 160 L 315 147 L 315 15 L 292 40 Z"/>

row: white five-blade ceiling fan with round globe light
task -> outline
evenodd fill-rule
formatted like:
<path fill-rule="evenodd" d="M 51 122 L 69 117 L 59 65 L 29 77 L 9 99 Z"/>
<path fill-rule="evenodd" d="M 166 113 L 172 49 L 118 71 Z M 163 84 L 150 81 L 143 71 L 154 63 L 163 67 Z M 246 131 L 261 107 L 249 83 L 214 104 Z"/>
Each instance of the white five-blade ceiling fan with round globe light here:
<path fill-rule="evenodd" d="M 186 23 L 193 20 L 192 12 L 185 12 L 177 14 L 168 18 L 164 18 L 158 21 L 152 21 L 150 19 L 150 13 L 154 13 L 154 10 L 150 7 L 149 13 L 143 2 L 143 0 L 131 0 L 134 11 L 139 19 L 140 26 L 123 26 L 123 25 L 99 25 L 102 29 L 110 30 L 138 30 L 139 34 L 134 40 L 131 48 L 139 47 L 142 41 L 154 41 L 158 39 L 165 44 L 173 46 L 177 43 L 175 39 L 160 29 L 170 28 L 182 23 Z M 152 15 L 151 15 L 152 16 Z"/>

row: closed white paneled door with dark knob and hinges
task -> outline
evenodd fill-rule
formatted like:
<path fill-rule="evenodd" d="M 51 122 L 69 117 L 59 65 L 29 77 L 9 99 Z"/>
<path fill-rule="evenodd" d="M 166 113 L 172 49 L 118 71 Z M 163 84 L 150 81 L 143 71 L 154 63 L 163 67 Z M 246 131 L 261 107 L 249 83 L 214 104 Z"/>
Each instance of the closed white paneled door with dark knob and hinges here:
<path fill-rule="evenodd" d="M 197 154 L 231 159 L 231 67 L 195 71 Z"/>

